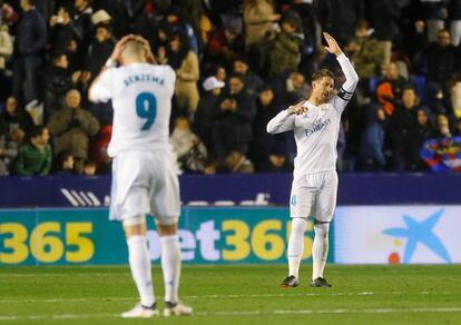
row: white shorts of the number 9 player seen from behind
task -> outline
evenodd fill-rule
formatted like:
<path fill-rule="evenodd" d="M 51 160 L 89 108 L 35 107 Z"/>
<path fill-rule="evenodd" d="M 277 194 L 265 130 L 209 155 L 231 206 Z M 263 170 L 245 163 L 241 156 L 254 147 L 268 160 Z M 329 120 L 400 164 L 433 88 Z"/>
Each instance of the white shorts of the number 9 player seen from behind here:
<path fill-rule="evenodd" d="M 159 225 L 173 225 L 180 214 L 177 170 L 167 151 L 122 151 L 112 161 L 110 220 L 151 214 Z"/>

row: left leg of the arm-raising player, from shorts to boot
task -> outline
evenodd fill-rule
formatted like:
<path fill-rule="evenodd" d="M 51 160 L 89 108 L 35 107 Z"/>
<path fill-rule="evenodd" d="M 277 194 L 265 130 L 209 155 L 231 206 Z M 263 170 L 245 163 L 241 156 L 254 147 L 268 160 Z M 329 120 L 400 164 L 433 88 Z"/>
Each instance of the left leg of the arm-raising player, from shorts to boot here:
<path fill-rule="evenodd" d="M 293 181 L 290 199 L 292 228 L 287 248 L 288 276 L 282 282 L 281 287 L 296 287 L 300 284 L 300 266 L 304 253 L 304 233 L 307 227 L 307 217 L 314 208 L 315 193 L 316 188 L 308 186 L 305 178 Z"/>

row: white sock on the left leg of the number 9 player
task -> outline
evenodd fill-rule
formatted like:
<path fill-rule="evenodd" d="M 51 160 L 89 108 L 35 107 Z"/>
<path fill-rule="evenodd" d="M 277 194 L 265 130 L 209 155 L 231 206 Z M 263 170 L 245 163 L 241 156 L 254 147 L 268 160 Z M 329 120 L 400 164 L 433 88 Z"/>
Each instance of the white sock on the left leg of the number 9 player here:
<path fill-rule="evenodd" d="M 133 279 L 136 283 L 141 304 L 151 306 L 155 303 L 153 274 L 147 249 L 146 236 L 135 235 L 127 239 L 129 266 L 131 268 Z"/>

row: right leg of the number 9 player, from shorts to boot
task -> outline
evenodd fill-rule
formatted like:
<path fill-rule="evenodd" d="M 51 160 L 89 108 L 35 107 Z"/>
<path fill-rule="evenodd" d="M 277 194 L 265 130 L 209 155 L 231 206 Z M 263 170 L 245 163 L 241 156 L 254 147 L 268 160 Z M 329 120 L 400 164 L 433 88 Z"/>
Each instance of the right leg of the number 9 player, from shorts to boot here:
<path fill-rule="evenodd" d="M 168 162 L 165 162 L 168 164 Z M 151 186 L 151 213 L 156 216 L 161 244 L 161 270 L 165 284 L 165 316 L 190 315 L 193 308 L 179 301 L 180 247 L 177 234 L 179 207 L 179 184 L 169 166 L 156 170 L 155 186 Z"/>

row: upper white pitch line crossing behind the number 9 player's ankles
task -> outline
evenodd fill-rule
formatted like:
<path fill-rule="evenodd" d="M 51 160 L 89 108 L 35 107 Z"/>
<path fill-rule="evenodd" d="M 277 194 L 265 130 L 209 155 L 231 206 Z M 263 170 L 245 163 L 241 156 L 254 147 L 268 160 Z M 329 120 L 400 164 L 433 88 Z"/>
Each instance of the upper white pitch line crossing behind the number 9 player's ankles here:
<path fill-rule="evenodd" d="M 253 294 L 253 295 L 190 295 L 182 296 L 183 299 L 239 299 L 239 298 L 277 298 L 277 297 L 331 297 L 331 296 L 389 296 L 389 295 L 449 295 L 450 293 L 293 293 L 293 294 Z M 157 297 L 160 299 L 161 297 Z M 0 299 L 0 304 L 27 304 L 27 303 L 70 303 L 70 302 L 101 302 L 101 301 L 137 301 L 137 297 L 90 297 L 90 298 L 52 298 L 52 299 L 18 299 L 18 298 L 3 298 Z"/>

